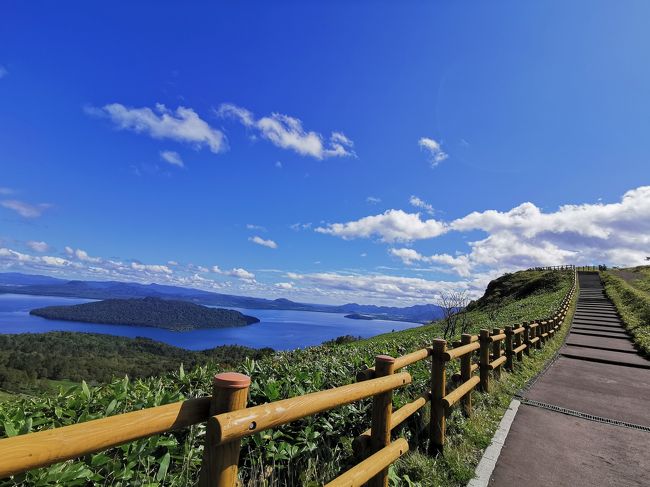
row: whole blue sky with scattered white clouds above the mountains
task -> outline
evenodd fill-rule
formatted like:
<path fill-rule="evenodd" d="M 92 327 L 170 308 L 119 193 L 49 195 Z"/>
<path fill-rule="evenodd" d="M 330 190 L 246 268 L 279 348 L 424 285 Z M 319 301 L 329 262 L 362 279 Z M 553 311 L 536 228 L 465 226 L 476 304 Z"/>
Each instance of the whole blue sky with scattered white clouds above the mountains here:
<path fill-rule="evenodd" d="M 3 2 L 0 270 L 408 305 L 642 264 L 648 21 L 647 2 Z"/>

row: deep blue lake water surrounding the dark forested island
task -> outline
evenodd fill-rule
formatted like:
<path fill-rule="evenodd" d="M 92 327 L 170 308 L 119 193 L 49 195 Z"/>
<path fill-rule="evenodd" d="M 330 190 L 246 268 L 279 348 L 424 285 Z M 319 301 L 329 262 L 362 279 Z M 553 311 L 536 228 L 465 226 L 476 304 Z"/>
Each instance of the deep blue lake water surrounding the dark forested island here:
<path fill-rule="evenodd" d="M 148 337 L 188 350 L 204 350 L 219 345 L 244 345 L 253 348 L 271 347 L 275 350 L 291 350 L 319 345 L 326 340 L 341 335 L 367 338 L 392 330 L 405 330 L 420 326 L 419 323 L 402 321 L 351 320 L 338 313 L 232 308 L 259 318 L 260 323 L 233 328 L 178 332 L 147 326 L 103 325 L 46 320 L 29 314 L 30 310 L 43 306 L 69 305 L 88 301 L 90 300 L 0 294 L 0 333 L 77 331 L 125 337 Z"/>

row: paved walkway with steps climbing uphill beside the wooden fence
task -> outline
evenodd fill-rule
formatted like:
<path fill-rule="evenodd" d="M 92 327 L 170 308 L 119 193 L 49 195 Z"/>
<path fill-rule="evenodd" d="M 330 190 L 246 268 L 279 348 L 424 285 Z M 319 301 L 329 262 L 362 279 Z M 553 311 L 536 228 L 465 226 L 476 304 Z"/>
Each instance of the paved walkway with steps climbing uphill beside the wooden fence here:
<path fill-rule="evenodd" d="M 566 344 L 524 394 L 491 486 L 650 485 L 650 360 L 598 274 L 578 278 Z"/>

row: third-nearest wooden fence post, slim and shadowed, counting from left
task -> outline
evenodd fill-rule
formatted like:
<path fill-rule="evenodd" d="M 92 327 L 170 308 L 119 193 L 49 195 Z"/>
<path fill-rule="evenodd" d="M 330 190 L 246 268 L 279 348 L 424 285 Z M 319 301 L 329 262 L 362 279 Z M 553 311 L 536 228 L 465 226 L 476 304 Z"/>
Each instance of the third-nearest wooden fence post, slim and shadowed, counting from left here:
<path fill-rule="evenodd" d="M 431 422 L 429 425 L 429 451 L 432 455 L 442 453 L 445 445 L 445 408 L 442 398 L 446 394 L 445 358 L 447 342 L 440 338 L 433 341 L 431 355 Z"/>

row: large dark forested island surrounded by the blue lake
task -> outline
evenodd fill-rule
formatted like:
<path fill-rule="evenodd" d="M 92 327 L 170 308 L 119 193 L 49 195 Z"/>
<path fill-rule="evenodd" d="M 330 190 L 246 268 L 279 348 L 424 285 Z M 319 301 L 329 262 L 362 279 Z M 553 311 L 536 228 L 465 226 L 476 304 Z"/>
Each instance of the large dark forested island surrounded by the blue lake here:
<path fill-rule="evenodd" d="M 152 326 L 175 331 L 246 326 L 260 321 L 230 309 L 151 297 L 106 299 L 72 306 L 47 306 L 33 309 L 30 314 L 50 320 Z"/>

